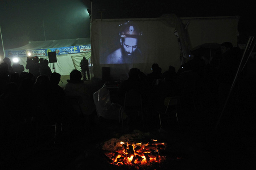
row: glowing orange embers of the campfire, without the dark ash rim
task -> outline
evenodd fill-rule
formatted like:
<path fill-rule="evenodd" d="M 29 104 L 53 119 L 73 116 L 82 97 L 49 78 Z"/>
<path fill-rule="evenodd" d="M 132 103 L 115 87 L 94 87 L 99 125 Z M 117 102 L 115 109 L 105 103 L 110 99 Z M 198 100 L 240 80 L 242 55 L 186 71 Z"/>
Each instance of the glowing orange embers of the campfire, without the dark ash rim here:
<path fill-rule="evenodd" d="M 164 161 L 166 157 L 161 156 L 161 151 L 165 149 L 166 143 L 154 139 L 146 144 L 116 141 L 114 150 L 112 148 L 105 151 L 105 155 L 108 156 L 111 164 L 138 168 Z"/>

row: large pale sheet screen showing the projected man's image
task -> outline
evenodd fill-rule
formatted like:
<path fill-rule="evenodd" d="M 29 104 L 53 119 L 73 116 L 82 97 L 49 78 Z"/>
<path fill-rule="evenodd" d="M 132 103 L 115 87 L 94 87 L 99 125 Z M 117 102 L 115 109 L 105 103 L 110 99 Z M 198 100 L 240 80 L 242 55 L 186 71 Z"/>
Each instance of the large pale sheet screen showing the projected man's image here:
<path fill-rule="evenodd" d="M 162 71 L 180 66 L 175 28 L 159 19 L 93 20 L 92 55 L 94 76 L 111 68 L 113 79 L 126 79 L 131 68 L 151 73 L 157 63 Z"/>

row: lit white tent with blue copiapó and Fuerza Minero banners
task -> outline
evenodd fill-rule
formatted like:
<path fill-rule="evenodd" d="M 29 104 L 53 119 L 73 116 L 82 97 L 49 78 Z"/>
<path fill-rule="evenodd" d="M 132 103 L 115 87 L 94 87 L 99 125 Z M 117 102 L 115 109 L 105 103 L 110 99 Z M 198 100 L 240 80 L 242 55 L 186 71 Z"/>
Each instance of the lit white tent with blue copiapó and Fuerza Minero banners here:
<path fill-rule="evenodd" d="M 83 57 L 90 61 L 90 38 L 33 41 L 19 48 L 5 50 L 5 57 L 18 57 L 20 64 L 25 67 L 29 53 L 48 59 L 48 51 L 56 51 L 57 58 L 57 62 L 49 63 L 49 67 L 52 69 L 54 66 L 55 72 L 61 75 L 69 75 L 73 69 L 80 70 L 79 63 Z"/>

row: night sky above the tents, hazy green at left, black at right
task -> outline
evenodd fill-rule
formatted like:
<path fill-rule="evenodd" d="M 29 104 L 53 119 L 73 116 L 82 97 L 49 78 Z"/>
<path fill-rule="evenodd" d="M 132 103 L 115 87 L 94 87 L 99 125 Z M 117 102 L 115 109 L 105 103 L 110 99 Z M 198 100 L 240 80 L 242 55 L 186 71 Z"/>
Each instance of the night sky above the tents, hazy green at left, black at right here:
<path fill-rule="evenodd" d="M 5 49 L 29 41 L 90 37 L 90 0 L 0 0 L 0 26 Z M 178 17 L 239 15 L 239 41 L 255 35 L 256 6 L 244 0 L 93 0 L 93 19 L 154 18 L 174 13 Z M 43 26 L 44 20 L 44 26 Z M 0 56 L 3 47 L 0 43 Z"/>

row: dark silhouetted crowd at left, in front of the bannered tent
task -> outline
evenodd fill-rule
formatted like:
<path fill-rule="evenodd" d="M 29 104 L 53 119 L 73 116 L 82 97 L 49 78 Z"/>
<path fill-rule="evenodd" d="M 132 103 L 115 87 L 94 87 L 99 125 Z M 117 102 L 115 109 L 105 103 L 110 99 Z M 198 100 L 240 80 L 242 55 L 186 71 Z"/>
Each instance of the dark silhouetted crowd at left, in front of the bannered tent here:
<path fill-rule="evenodd" d="M 87 87 L 83 86 L 83 83 L 80 84 L 72 76 L 74 72 L 79 72 L 81 75 L 80 71 L 71 72 L 70 81 L 64 91 L 58 85 L 61 74 L 54 72 L 35 77 L 32 74 L 33 71 L 17 73 L 13 71 L 9 59 L 5 59 L 5 61 L 8 63 L 0 64 L 0 138 L 4 139 L 1 140 L 1 145 L 6 145 L 10 141 L 14 144 L 17 139 L 21 143 L 26 141 L 26 136 L 18 133 L 24 130 L 20 125 L 26 125 L 32 121 L 36 122 L 33 125 L 61 123 L 64 129 L 63 134 L 72 134 L 71 132 L 78 128 L 85 130 L 81 127 L 82 122 L 85 121 L 85 116 L 79 116 L 66 99 L 68 95 L 82 95 L 83 99 L 86 98 L 84 100 L 85 105 L 91 106 L 90 111 L 87 108 L 82 108 L 83 114 L 90 114 L 95 109 L 93 102 L 90 102 L 89 99 L 91 97 L 91 101 L 93 101 L 92 96 L 88 97 L 89 91 L 85 91 Z M 48 62 L 46 63 L 48 64 Z M 82 85 L 81 88 L 80 85 Z M 17 137 L 19 134 L 20 136 Z M 3 136 L 5 137 L 3 138 Z"/>

